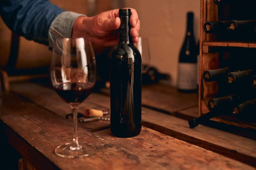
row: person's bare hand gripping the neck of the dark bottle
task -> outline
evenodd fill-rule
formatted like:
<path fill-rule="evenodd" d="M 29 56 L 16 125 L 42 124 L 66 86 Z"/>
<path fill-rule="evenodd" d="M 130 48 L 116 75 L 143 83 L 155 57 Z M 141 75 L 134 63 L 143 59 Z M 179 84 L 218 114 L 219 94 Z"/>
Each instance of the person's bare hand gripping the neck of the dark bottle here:
<path fill-rule="evenodd" d="M 138 42 L 140 20 L 135 9 L 131 9 L 131 36 L 134 43 Z M 78 17 L 73 24 L 72 38 L 89 35 L 93 44 L 114 46 L 118 43 L 117 29 L 120 26 L 119 9 L 102 12 L 93 17 Z"/>

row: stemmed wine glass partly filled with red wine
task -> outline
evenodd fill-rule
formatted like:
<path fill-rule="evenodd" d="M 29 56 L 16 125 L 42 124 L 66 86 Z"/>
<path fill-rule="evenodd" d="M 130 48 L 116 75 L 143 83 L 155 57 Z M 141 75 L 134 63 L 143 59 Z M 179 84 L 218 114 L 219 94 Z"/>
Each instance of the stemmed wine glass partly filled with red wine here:
<path fill-rule="evenodd" d="M 90 39 L 56 39 L 50 71 L 53 87 L 72 109 L 74 127 L 73 142 L 58 146 L 55 153 L 64 158 L 89 156 L 96 147 L 78 142 L 77 110 L 89 96 L 96 80 L 96 62 Z"/>

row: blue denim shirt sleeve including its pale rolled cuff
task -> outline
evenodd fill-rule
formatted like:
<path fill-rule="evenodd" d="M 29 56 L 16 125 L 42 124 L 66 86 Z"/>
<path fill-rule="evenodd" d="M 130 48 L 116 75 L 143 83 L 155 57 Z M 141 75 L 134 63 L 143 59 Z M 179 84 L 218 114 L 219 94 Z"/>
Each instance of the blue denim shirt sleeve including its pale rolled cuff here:
<path fill-rule="evenodd" d="M 45 45 L 57 36 L 70 37 L 74 20 L 81 16 L 49 0 L 0 0 L 0 15 L 14 33 Z"/>

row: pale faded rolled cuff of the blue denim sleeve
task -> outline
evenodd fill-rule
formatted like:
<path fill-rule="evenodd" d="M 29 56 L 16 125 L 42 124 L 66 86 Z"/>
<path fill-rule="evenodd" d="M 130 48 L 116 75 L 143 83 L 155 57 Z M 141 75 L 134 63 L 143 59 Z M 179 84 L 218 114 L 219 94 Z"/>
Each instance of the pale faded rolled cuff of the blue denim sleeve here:
<path fill-rule="evenodd" d="M 71 38 L 74 21 L 80 16 L 86 15 L 64 11 L 52 21 L 48 31 L 50 49 L 52 49 L 56 38 Z"/>

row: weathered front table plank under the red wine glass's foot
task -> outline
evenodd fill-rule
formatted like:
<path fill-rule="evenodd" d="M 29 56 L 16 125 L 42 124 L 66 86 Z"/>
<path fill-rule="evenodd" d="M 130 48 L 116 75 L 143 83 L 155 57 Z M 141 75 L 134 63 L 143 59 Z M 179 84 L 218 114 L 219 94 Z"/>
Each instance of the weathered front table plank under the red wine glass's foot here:
<path fill-rule="evenodd" d="M 87 158 L 60 158 L 53 150 L 71 141 L 72 122 L 13 94 L 5 93 L 4 99 L 1 124 L 8 141 L 22 154 L 29 153 L 23 156 L 36 169 L 253 169 L 146 127 L 137 137 L 117 138 L 109 129 L 91 133 L 79 124 L 79 140 L 96 145 L 97 152 Z"/>

